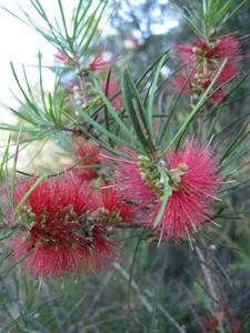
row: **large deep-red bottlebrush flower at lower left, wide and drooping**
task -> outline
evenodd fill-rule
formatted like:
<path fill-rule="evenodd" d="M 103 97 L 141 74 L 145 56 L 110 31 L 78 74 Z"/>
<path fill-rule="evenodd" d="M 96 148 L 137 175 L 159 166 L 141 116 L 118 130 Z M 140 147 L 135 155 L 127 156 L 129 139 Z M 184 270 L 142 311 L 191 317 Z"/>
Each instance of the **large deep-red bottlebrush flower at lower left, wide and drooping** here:
<path fill-rule="evenodd" d="M 16 205 L 32 184 L 16 188 Z M 19 235 L 10 242 L 14 259 L 27 260 L 26 274 L 76 275 L 116 258 L 103 226 L 90 218 L 90 202 L 88 185 L 69 178 L 43 181 L 33 190 L 19 212 Z"/>

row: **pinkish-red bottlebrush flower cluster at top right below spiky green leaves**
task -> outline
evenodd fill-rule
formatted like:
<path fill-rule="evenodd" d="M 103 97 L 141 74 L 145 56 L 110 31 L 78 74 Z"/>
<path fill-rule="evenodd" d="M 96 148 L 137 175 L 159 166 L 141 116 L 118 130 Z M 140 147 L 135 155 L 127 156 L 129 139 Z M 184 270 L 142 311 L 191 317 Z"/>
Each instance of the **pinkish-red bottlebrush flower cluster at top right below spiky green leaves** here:
<path fill-rule="evenodd" d="M 228 60 L 227 64 L 221 71 L 217 84 L 226 83 L 239 71 L 240 44 L 239 40 L 231 36 L 216 39 L 212 42 L 207 39 L 196 39 L 192 46 L 177 46 L 176 51 L 180 61 L 186 63 L 188 69 L 179 74 L 174 87 L 177 90 L 183 89 L 184 93 L 188 93 L 190 89 L 194 101 L 199 100 L 199 97 L 210 85 L 226 59 Z M 212 91 L 209 98 L 212 102 L 217 102 L 224 94 L 224 90 L 220 89 Z"/>

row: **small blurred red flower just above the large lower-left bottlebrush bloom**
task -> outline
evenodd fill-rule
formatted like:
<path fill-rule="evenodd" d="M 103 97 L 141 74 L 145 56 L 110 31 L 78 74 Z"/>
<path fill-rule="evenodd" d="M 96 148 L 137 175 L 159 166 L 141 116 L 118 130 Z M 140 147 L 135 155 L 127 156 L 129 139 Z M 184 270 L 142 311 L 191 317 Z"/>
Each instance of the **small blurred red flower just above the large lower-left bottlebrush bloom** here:
<path fill-rule="evenodd" d="M 82 160 L 80 167 L 83 168 L 74 169 L 72 171 L 73 174 L 81 181 L 90 181 L 94 178 L 98 178 L 97 167 L 106 162 L 106 158 L 104 155 L 102 155 L 102 151 L 99 145 L 96 142 L 89 140 L 80 145 L 77 151 L 77 157 Z M 87 169 L 86 167 L 89 168 Z"/>

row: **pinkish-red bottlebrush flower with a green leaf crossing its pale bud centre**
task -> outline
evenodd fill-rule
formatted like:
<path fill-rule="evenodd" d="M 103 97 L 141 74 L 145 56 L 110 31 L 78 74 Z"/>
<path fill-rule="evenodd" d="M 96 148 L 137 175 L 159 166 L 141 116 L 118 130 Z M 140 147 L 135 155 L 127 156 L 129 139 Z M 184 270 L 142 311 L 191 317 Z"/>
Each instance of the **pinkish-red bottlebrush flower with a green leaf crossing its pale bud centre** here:
<path fill-rule="evenodd" d="M 148 206 L 143 224 L 153 228 L 162 204 L 163 182 L 157 165 L 147 158 L 141 159 L 139 162 L 119 161 L 118 189 L 122 198 L 138 204 L 137 210 Z M 174 236 L 178 241 L 212 218 L 221 176 L 209 147 L 199 147 L 193 140 L 187 141 L 183 151 L 169 152 L 167 161 L 168 164 L 164 161 L 161 164 L 166 165 L 162 168 L 169 178 L 170 195 L 158 230 L 161 238 Z"/>

